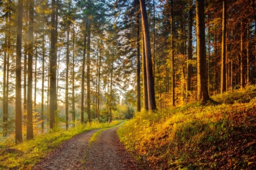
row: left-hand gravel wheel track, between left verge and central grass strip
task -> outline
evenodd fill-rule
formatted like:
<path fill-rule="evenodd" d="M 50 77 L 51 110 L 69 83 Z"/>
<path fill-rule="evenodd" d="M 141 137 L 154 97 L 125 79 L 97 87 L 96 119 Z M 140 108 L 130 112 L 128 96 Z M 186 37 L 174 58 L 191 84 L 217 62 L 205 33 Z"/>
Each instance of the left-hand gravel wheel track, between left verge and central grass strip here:
<path fill-rule="evenodd" d="M 85 131 L 65 141 L 55 151 L 37 163 L 34 169 L 83 169 L 82 160 L 88 150 L 90 137 L 98 130 Z"/>

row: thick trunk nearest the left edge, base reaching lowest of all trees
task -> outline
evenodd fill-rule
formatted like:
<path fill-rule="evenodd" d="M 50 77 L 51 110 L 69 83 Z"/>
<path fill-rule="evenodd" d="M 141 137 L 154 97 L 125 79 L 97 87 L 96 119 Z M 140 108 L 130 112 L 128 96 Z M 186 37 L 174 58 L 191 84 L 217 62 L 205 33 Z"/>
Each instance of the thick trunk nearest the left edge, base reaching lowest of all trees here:
<path fill-rule="evenodd" d="M 18 0 L 16 79 L 15 79 L 15 143 L 22 142 L 22 97 L 21 97 L 21 59 L 22 59 L 22 15 L 23 0 Z"/>

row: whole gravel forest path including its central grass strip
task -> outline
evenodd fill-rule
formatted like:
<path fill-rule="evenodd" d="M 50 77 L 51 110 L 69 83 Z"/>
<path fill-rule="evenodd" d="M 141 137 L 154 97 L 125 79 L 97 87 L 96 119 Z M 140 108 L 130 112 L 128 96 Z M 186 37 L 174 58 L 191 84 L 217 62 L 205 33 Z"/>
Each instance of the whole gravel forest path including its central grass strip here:
<path fill-rule="evenodd" d="M 145 169 L 119 142 L 119 126 L 90 130 L 67 140 L 33 169 Z"/>

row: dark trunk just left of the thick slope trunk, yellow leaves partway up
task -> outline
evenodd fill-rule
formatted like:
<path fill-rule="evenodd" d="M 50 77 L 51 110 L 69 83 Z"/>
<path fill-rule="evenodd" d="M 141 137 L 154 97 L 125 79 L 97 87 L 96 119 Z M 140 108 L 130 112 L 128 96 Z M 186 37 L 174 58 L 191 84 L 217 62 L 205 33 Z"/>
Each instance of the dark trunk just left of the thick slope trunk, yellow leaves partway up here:
<path fill-rule="evenodd" d="M 191 91 L 191 77 L 192 77 L 192 55 L 193 55 L 193 9 L 192 9 L 192 0 L 189 1 L 189 11 L 188 11 L 188 57 L 187 57 L 187 88 L 186 88 L 186 103 L 188 102 L 189 91 Z"/>

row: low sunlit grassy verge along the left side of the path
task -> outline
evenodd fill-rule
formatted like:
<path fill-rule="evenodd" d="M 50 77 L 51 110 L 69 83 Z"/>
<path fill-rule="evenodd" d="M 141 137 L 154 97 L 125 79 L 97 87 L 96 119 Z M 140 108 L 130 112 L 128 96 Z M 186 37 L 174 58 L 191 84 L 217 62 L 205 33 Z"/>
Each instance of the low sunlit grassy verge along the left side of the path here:
<path fill-rule="evenodd" d="M 20 144 L 14 144 L 10 140 L 0 143 L 0 169 L 31 169 L 36 162 L 72 136 L 96 128 L 112 127 L 119 123 L 121 121 L 77 124 L 76 127 L 69 128 L 67 131 L 59 128 L 54 132 L 36 136 L 35 139 Z"/>

